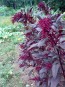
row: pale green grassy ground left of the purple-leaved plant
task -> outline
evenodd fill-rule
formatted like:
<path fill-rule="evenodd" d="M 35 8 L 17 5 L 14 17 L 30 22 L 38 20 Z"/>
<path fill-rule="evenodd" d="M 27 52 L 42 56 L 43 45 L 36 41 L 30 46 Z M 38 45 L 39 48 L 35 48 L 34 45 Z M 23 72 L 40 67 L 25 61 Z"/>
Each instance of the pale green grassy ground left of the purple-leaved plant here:
<path fill-rule="evenodd" d="M 5 10 L 1 9 L 0 13 L 3 14 Z M 25 87 L 17 64 L 18 44 L 24 41 L 23 26 L 17 23 L 13 25 L 11 17 L 11 14 L 0 16 L 0 87 Z"/>

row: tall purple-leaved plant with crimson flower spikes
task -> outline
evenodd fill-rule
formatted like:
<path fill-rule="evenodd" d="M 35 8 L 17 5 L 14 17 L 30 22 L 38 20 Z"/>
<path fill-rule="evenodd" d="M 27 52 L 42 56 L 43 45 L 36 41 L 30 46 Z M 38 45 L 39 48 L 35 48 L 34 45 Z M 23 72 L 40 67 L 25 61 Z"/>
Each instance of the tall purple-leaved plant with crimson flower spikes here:
<path fill-rule="evenodd" d="M 65 14 L 52 15 L 44 2 L 38 8 L 45 13 L 43 18 L 37 15 L 35 19 L 32 9 L 12 17 L 13 23 L 21 22 L 25 28 L 26 40 L 20 44 L 19 64 L 24 68 L 34 67 L 37 74 L 30 79 L 35 80 L 36 87 L 57 87 L 61 78 L 65 79 L 65 21 L 62 19 Z"/>

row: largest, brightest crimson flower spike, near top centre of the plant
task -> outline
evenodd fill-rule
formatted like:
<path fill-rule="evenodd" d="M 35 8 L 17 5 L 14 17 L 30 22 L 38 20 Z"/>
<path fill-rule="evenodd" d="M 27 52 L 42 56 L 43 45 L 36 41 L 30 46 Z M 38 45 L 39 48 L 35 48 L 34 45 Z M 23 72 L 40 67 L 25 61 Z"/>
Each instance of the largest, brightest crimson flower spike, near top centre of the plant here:
<path fill-rule="evenodd" d="M 49 32 L 51 29 L 52 24 L 51 19 L 50 18 L 40 19 L 38 24 L 40 28 L 42 28 L 42 37 L 46 37 L 47 32 Z"/>

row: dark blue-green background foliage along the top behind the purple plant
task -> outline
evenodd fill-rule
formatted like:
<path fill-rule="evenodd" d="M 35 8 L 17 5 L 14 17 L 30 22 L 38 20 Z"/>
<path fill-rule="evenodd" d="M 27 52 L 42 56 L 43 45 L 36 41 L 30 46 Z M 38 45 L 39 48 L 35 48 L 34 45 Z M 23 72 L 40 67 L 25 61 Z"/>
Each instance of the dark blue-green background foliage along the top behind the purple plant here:
<path fill-rule="evenodd" d="M 45 1 L 55 10 L 60 9 L 63 12 L 65 9 L 65 0 L 0 0 L 0 5 L 6 5 L 7 7 L 16 9 L 25 7 L 25 5 L 36 5 L 41 1 Z"/>

